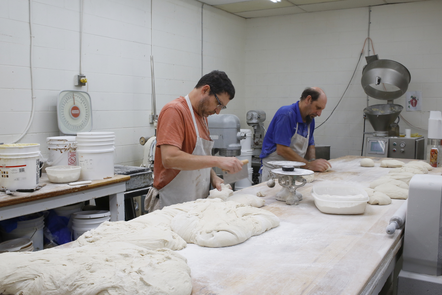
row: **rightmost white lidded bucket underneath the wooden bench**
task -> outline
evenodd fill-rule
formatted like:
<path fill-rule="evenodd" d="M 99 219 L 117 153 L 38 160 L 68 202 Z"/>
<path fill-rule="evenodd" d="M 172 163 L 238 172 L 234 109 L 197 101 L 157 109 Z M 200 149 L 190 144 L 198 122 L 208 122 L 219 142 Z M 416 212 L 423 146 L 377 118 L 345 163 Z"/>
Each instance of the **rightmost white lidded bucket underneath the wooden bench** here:
<path fill-rule="evenodd" d="M 110 220 L 109 211 L 81 211 L 72 213 L 72 235 L 76 240 L 88 230 L 97 228 L 100 224 Z"/>

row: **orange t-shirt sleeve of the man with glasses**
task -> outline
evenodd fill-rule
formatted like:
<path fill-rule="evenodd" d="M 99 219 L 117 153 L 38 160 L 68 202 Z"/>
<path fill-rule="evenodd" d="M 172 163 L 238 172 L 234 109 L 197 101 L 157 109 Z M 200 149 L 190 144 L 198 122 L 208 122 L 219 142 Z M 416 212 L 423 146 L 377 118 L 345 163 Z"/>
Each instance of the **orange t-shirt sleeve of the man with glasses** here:
<path fill-rule="evenodd" d="M 185 126 L 183 113 L 176 107 L 162 110 L 156 126 L 156 146 L 172 145 L 183 148 Z"/>

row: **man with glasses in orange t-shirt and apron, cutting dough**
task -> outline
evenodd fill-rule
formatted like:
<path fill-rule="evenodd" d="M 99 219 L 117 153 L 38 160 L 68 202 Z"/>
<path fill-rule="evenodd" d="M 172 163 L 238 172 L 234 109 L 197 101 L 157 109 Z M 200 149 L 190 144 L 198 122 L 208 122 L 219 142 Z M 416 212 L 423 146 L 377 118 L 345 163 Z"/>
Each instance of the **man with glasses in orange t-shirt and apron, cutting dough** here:
<path fill-rule="evenodd" d="M 206 198 L 209 184 L 221 190 L 212 167 L 236 173 L 243 163 L 236 157 L 211 155 L 207 117 L 219 114 L 235 96 L 226 73 L 204 75 L 186 96 L 167 103 L 158 116 L 153 186 L 159 190 L 160 208 Z"/>

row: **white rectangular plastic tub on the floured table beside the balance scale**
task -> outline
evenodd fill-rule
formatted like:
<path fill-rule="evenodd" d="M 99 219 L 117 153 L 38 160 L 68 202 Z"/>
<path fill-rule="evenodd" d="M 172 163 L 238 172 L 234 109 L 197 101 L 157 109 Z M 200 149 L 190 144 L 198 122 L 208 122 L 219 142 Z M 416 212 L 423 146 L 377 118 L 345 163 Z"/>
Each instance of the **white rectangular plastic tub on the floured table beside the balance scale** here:
<path fill-rule="evenodd" d="M 316 207 L 328 214 L 362 214 L 370 199 L 364 189 L 347 184 L 316 184 L 311 194 Z"/>

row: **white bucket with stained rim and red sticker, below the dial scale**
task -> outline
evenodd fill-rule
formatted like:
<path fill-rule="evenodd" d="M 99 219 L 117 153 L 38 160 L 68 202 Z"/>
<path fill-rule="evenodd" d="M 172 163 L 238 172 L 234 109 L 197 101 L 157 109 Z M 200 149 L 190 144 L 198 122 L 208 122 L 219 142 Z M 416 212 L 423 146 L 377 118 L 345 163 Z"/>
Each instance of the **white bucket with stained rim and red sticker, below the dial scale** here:
<path fill-rule="evenodd" d="M 76 140 L 75 136 L 55 136 L 46 138 L 49 150 L 49 166 L 72 165 L 76 166 Z"/>

